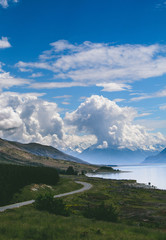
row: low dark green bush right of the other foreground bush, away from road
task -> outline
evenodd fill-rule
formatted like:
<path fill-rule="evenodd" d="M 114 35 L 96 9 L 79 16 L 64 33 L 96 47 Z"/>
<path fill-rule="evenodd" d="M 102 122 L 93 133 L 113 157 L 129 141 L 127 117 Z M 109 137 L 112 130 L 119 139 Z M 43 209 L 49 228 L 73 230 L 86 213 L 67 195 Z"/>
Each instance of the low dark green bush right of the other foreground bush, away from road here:
<path fill-rule="evenodd" d="M 96 206 L 89 206 L 83 212 L 84 217 L 93 218 L 96 220 L 116 222 L 118 220 L 118 213 L 112 205 L 100 204 Z"/>

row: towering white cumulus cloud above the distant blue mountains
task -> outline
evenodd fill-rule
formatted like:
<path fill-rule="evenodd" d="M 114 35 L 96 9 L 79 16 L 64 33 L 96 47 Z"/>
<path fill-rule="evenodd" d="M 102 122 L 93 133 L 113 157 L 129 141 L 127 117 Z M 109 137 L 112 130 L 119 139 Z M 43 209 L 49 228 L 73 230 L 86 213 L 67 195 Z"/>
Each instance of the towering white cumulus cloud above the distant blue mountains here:
<path fill-rule="evenodd" d="M 72 113 L 66 114 L 66 121 L 78 132 L 97 137 L 98 147 L 155 149 L 166 143 L 161 133 L 150 133 L 139 124 L 134 124 L 138 114 L 134 108 L 119 107 L 102 96 L 93 95 Z M 107 144 L 106 144 L 107 143 Z"/>

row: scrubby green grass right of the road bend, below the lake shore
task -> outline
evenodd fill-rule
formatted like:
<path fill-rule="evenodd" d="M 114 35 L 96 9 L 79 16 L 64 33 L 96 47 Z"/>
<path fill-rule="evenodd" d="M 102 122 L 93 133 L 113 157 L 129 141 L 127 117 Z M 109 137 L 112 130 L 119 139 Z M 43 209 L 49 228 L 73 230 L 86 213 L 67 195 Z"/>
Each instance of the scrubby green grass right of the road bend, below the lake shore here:
<path fill-rule="evenodd" d="M 111 204 L 117 208 L 120 222 L 166 229 L 166 191 L 133 188 L 127 180 L 82 179 L 93 184 L 93 188 L 65 198 L 76 212 L 88 204 Z"/>

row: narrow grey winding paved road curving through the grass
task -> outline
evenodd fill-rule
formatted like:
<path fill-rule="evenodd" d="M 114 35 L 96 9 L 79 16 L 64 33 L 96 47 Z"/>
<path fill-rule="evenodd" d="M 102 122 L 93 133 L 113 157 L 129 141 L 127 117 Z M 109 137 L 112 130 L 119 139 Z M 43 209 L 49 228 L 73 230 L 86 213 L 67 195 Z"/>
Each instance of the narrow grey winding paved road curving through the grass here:
<path fill-rule="evenodd" d="M 59 198 L 59 197 L 64 197 L 64 196 L 75 194 L 75 193 L 84 192 L 86 190 L 89 190 L 92 187 L 92 185 L 90 183 L 80 182 L 80 181 L 75 181 L 75 182 L 79 183 L 79 184 L 82 184 L 83 188 L 72 191 L 72 192 L 55 195 L 54 198 Z M 30 200 L 30 201 L 26 201 L 26 202 L 15 203 L 15 204 L 3 206 L 3 207 L 0 207 L 0 212 L 4 212 L 7 209 L 19 208 L 19 207 L 22 207 L 22 206 L 25 206 L 25 205 L 32 204 L 34 202 L 35 202 L 35 200 Z"/>

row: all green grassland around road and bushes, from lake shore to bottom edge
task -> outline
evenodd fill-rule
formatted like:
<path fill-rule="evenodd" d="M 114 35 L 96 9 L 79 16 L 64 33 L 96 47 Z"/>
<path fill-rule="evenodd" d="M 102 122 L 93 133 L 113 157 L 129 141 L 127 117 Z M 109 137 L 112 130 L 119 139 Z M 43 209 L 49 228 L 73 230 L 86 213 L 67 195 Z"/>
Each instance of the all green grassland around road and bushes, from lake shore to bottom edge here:
<path fill-rule="evenodd" d="M 76 177 L 61 179 L 56 193 L 80 186 Z M 40 212 L 33 206 L 8 210 L 0 214 L 0 239 L 3 240 L 165 240 L 166 191 L 131 188 L 128 181 L 77 177 L 93 184 L 85 193 L 64 197 L 72 210 L 70 217 Z M 24 189 L 25 191 L 25 189 Z M 18 195 L 18 199 L 26 194 Z M 43 191 L 43 190 L 42 190 Z M 36 194 L 36 193 L 35 193 Z M 25 197 L 25 196 L 24 196 Z M 118 223 L 84 218 L 81 210 L 88 204 L 114 204 L 119 211 Z"/>

